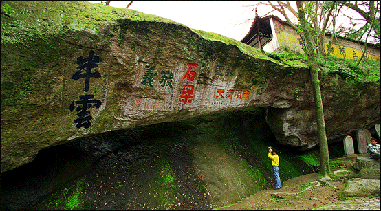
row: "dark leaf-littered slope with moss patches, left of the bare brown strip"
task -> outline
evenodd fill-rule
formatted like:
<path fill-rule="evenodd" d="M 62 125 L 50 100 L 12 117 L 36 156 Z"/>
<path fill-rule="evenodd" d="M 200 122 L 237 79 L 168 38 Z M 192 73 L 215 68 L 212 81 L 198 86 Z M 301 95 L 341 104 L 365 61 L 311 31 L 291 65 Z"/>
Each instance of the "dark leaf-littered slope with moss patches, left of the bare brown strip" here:
<path fill-rule="evenodd" d="M 45 199 L 38 209 L 206 210 L 210 202 L 185 147 L 138 145 L 111 153 L 90 173 Z"/>

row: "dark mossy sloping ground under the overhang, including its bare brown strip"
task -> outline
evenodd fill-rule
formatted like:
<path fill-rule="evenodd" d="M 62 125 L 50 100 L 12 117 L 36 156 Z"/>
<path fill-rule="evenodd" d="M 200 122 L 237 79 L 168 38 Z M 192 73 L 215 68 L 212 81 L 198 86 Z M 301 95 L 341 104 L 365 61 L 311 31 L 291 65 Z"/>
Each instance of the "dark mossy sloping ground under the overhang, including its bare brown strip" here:
<path fill-rule="evenodd" d="M 241 146 L 238 141 L 232 142 L 237 134 L 230 133 L 231 119 L 234 118 L 228 118 L 226 122 L 230 124 L 226 124 L 206 118 L 195 124 L 198 129 L 188 126 L 188 132 L 181 135 L 157 135 L 155 139 L 144 137 L 138 144 L 114 150 L 98 159 L 89 173 L 65 184 L 35 208 L 210 210 L 236 203 L 252 192 L 274 185 L 271 170 L 263 168 L 258 154 L 249 153 L 249 147 Z M 175 127 L 171 125 L 168 128 L 174 130 Z M 163 127 L 151 130 L 168 132 Z M 149 132 L 142 130 L 144 134 Z M 239 134 L 244 136 L 246 133 Z M 261 140 L 250 137 L 250 140 L 257 139 Z M 224 140 L 229 142 L 221 143 Z M 274 143 L 268 140 L 266 144 Z M 254 144 L 257 148 L 264 148 L 267 154 L 267 146 L 262 145 Z M 259 177 L 262 180 L 252 178 L 244 168 L 243 160 L 252 169 L 261 167 L 258 175 L 263 174 L 263 178 Z"/>

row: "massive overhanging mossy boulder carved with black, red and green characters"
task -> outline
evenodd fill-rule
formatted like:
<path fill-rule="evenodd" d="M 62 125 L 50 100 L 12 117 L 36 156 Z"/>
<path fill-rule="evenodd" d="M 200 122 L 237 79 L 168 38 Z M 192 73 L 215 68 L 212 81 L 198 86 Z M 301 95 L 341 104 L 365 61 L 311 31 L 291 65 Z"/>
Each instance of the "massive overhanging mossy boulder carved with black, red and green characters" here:
<path fill-rule="evenodd" d="M 12 12 L 1 14 L 1 172 L 78 137 L 245 107 L 268 108 L 281 144 L 318 144 L 309 70 L 298 60 L 134 10 L 5 4 Z M 329 140 L 379 122 L 379 81 L 320 79 Z"/>

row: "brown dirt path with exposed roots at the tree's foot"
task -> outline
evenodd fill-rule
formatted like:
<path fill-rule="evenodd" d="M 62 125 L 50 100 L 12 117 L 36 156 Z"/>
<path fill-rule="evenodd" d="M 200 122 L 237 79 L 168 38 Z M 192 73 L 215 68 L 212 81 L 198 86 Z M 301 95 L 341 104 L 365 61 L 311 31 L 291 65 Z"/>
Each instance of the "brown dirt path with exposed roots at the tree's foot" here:
<path fill-rule="evenodd" d="M 327 186 L 318 184 L 318 179 L 318 173 L 289 179 L 279 190 L 257 192 L 239 203 L 219 210 L 312 210 L 338 202 L 338 193 L 345 188 L 345 181 L 334 179 L 329 181 L 331 186 Z"/>

